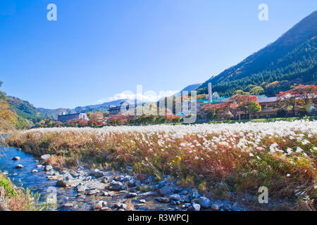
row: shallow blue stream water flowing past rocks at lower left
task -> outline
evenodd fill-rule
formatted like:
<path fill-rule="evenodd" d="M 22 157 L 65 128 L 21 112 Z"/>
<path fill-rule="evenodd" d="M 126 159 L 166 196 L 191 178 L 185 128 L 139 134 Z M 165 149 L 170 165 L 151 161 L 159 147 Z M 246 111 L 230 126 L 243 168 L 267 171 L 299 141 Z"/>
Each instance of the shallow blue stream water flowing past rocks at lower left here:
<path fill-rule="evenodd" d="M 15 156 L 20 157 L 20 160 L 14 161 Z M 75 188 L 58 188 L 56 180 L 49 180 L 43 167 L 37 167 L 39 160 L 33 155 L 24 153 L 23 150 L 17 148 L 0 146 L 0 171 L 8 176 L 16 186 L 29 188 L 32 193 L 39 193 L 41 197 L 39 202 L 44 203 L 47 198 L 52 195 L 56 196 L 56 208 L 54 210 L 92 210 L 92 206 L 99 200 L 107 202 L 107 206 L 113 210 L 115 203 L 125 202 L 126 192 L 115 191 L 112 196 L 103 196 L 101 193 L 97 195 L 79 194 Z M 23 165 L 23 168 L 17 169 L 16 165 Z M 32 173 L 33 169 L 38 172 Z M 105 190 L 107 191 L 107 190 Z M 139 204 L 139 200 L 146 200 L 146 204 Z M 158 203 L 154 200 L 154 196 L 142 196 L 129 199 L 130 205 L 133 205 L 133 210 L 177 210 L 177 207 L 171 208 L 169 204 Z M 73 207 L 63 207 L 64 204 L 71 203 Z"/>

